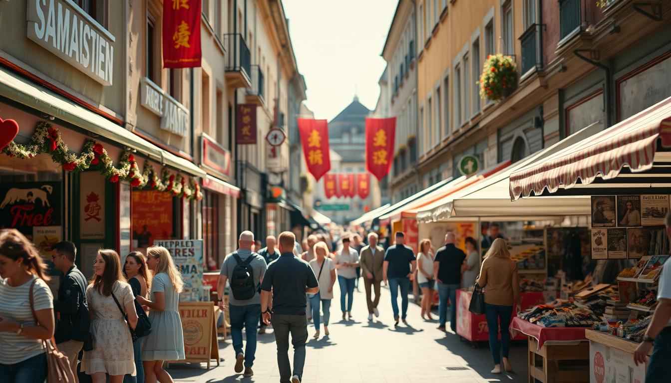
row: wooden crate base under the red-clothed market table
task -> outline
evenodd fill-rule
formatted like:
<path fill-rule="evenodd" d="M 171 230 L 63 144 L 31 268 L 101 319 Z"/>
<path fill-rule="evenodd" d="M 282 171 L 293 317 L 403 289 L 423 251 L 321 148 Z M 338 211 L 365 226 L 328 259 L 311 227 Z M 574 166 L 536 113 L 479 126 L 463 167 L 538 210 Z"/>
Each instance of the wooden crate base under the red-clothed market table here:
<path fill-rule="evenodd" d="M 529 383 L 589 383 L 589 342 L 547 345 L 529 337 Z"/>

